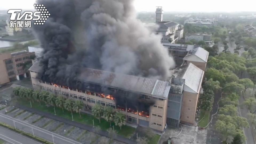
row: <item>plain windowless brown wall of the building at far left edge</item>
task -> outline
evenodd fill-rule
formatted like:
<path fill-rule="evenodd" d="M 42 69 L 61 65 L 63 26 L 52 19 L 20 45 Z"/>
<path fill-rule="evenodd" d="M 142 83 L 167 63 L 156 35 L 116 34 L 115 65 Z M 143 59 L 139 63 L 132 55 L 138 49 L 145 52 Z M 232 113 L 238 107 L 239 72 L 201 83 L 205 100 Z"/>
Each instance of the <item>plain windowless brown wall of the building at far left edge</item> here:
<path fill-rule="evenodd" d="M 10 82 L 5 66 L 5 59 L 10 59 L 11 54 L 0 54 L 0 85 Z"/>

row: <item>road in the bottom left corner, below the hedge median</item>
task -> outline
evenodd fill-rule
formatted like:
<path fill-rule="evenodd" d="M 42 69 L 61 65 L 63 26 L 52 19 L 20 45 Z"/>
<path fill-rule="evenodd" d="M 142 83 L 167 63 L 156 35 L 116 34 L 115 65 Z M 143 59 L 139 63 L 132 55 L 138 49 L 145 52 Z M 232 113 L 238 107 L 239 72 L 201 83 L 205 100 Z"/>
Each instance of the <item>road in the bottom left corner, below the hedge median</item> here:
<path fill-rule="evenodd" d="M 0 138 L 11 144 L 41 144 L 3 127 L 0 127 Z"/>

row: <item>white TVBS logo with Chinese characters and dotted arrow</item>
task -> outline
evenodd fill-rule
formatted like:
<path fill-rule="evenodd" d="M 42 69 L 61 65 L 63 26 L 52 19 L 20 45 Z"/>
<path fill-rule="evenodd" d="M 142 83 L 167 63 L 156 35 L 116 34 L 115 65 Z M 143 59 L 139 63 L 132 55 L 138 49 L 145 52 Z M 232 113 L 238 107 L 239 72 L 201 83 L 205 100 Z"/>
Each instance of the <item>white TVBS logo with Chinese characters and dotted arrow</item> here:
<path fill-rule="evenodd" d="M 47 11 L 46 7 L 43 4 L 34 4 L 37 11 L 25 11 L 21 13 L 21 9 L 10 9 L 8 14 L 10 16 L 10 27 L 31 27 L 31 21 L 35 21 L 34 25 L 43 25 L 47 18 L 51 15 Z"/>

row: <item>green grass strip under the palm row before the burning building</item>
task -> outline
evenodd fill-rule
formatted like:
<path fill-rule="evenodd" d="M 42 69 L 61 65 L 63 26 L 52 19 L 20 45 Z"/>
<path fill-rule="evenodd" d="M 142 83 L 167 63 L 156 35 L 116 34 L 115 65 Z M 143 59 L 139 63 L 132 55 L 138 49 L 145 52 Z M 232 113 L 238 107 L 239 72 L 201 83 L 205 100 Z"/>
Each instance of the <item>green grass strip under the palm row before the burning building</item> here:
<path fill-rule="evenodd" d="M 19 103 L 22 104 L 22 105 L 25 105 L 27 107 L 30 107 L 30 102 L 27 102 L 25 100 L 24 101 L 21 100 L 21 101 L 19 101 Z M 47 107 L 42 102 L 41 102 L 41 105 L 39 105 L 38 102 L 32 103 L 32 108 L 38 109 L 40 111 L 44 111 L 44 112 L 47 112 L 47 113 L 54 114 L 53 107 L 51 107 L 51 106 Z M 59 107 L 55 107 L 55 111 L 56 111 L 56 114 L 59 117 L 63 117 L 63 118 L 72 120 L 70 111 L 67 111 L 67 110 L 64 109 L 64 113 L 63 113 L 62 109 L 59 108 Z M 106 131 L 108 128 L 110 128 L 110 122 L 107 122 L 105 119 L 101 118 L 101 123 L 99 123 L 99 119 L 95 118 L 93 115 L 81 113 L 81 118 L 80 118 L 79 113 L 73 112 L 73 118 L 74 118 L 74 121 L 76 121 L 76 122 L 83 123 L 83 124 L 90 125 L 90 126 L 93 126 L 93 120 L 94 120 L 94 126 L 100 126 L 101 129 L 104 130 L 104 131 Z M 130 127 L 130 126 L 126 126 L 126 125 L 122 126 L 121 129 L 120 129 L 119 126 L 115 126 L 114 122 L 111 122 L 111 127 L 113 127 L 113 125 L 114 125 L 115 132 L 118 135 L 121 135 L 121 136 L 126 137 L 126 138 L 131 137 L 131 135 L 135 131 L 135 128 Z"/>

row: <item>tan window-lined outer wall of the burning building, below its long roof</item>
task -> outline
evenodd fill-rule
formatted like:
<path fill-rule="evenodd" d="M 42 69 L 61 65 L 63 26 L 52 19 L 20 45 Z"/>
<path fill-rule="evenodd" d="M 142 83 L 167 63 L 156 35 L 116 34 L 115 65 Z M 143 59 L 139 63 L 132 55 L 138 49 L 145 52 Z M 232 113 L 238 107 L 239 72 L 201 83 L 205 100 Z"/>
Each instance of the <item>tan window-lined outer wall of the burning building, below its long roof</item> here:
<path fill-rule="evenodd" d="M 75 100 L 79 100 L 79 98 L 78 98 L 79 96 L 81 96 L 82 99 L 85 98 L 85 100 L 81 100 L 85 104 L 85 109 L 83 109 L 82 111 L 90 111 L 91 108 L 93 106 L 95 106 L 97 101 L 101 101 L 101 102 L 105 103 L 105 105 L 107 105 L 107 103 L 109 103 L 116 108 L 115 101 L 112 101 L 110 99 L 101 98 L 101 97 L 97 97 L 96 95 L 90 95 L 90 94 L 82 93 L 79 91 L 73 91 L 73 90 L 61 88 L 58 86 L 49 85 L 46 83 L 40 83 L 39 80 L 36 78 L 37 73 L 30 71 L 30 75 L 31 75 L 31 81 L 32 81 L 34 89 L 46 90 L 49 92 L 55 91 L 55 92 L 57 92 L 57 94 L 59 96 L 64 96 L 66 98 L 72 98 Z M 65 96 L 65 94 L 67 94 L 67 96 Z M 75 96 L 77 96 L 77 98 L 75 98 Z M 87 101 L 88 98 L 90 100 L 95 101 L 95 103 L 88 102 Z M 155 101 L 155 103 L 153 106 L 150 106 L 149 118 L 140 116 L 139 114 L 129 113 L 127 111 L 127 109 L 125 111 L 121 111 L 121 110 L 119 110 L 119 111 L 121 111 L 121 113 L 126 115 L 128 123 L 139 125 L 139 121 L 146 121 L 146 122 L 148 122 L 147 127 L 150 127 L 154 130 L 162 132 L 162 131 L 164 131 L 165 124 L 166 124 L 167 99 L 159 99 L 159 98 L 155 98 L 155 97 L 151 97 L 151 99 L 153 99 Z M 117 110 L 117 109 L 115 109 L 115 110 Z M 137 113 L 138 113 L 138 111 L 137 111 Z M 134 119 L 134 122 L 128 121 L 128 118 L 131 118 L 131 117 Z M 141 126 L 144 126 L 144 125 L 141 125 Z"/>

